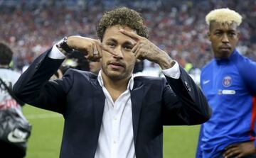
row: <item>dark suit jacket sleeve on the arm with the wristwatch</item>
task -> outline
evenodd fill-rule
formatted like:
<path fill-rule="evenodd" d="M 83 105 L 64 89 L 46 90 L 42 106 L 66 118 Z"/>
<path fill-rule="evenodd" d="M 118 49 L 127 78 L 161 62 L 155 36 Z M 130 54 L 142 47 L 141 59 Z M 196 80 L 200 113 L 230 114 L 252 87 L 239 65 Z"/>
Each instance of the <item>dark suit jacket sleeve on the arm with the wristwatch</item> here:
<path fill-rule="evenodd" d="M 63 113 L 65 95 L 72 84 L 72 74 L 66 73 L 63 79 L 49 81 L 63 60 L 53 60 L 44 52 L 21 74 L 14 84 L 14 94 L 21 101 L 38 108 Z"/>

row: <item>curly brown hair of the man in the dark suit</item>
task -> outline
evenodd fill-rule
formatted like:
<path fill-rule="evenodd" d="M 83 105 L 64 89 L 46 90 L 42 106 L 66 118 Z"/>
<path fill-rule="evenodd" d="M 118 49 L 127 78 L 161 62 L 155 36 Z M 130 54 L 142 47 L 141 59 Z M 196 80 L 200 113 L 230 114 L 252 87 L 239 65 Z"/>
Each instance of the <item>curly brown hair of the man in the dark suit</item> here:
<path fill-rule="evenodd" d="M 102 41 L 105 30 L 115 25 L 128 26 L 136 30 L 138 35 L 149 38 L 144 18 L 137 11 L 127 9 L 126 7 L 113 9 L 104 13 L 100 19 L 100 23 L 96 27 L 97 37 Z"/>

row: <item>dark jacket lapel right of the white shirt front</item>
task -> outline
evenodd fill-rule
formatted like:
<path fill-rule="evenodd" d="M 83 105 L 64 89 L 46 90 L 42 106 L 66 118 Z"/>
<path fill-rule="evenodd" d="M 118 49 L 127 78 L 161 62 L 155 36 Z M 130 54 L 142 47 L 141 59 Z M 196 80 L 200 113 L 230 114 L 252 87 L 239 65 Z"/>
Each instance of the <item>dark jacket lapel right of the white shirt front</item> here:
<path fill-rule="evenodd" d="M 132 101 L 132 126 L 134 130 L 134 144 L 136 145 L 137 133 L 139 128 L 139 116 L 142 109 L 142 100 L 144 98 L 144 86 L 142 82 L 134 81 L 134 89 L 131 91 Z"/>

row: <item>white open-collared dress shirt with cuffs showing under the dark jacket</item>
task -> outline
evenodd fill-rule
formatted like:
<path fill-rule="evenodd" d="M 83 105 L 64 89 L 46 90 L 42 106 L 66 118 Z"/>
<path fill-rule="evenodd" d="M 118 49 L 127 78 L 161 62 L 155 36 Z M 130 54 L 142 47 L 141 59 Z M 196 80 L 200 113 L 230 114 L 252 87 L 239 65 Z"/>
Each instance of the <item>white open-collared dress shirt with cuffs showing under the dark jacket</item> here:
<path fill-rule="evenodd" d="M 48 57 L 52 59 L 65 58 L 55 45 Z M 95 158 L 135 158 L 130 93 L 134 86 L 134 77 L 132 75 L 127 90 L 114 102 L 104 86 L 101 73 L 100 71 L 97 79 L 106 98 Z M 174 79 L 178 79 L 181 75 L 177 62 L 170 69 L 164 69 L 163 73 Z"/>

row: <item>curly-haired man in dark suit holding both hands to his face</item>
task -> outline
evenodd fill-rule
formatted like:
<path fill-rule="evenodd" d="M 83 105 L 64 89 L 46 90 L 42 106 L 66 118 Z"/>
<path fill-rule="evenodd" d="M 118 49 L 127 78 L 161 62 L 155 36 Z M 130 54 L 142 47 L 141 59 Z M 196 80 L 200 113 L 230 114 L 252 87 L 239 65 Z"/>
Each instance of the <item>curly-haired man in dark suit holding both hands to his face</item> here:
<path fill-rule="evenodd" d="M 163 157 L 163 125 L 206 122 L 211 110 L 191 77 L 148 40 L 144 19 L 119 8 L 102 16 L 100 40 L 70 36 L 38 57 L 14 86 L 18 98 L 63 114 L 62 158 Z M 102 62 L 98 75 L 68 69 L 48 81 L 72 50 Z M 165 78 L 133 77 L 137 60 L 159 64 Z"/>

